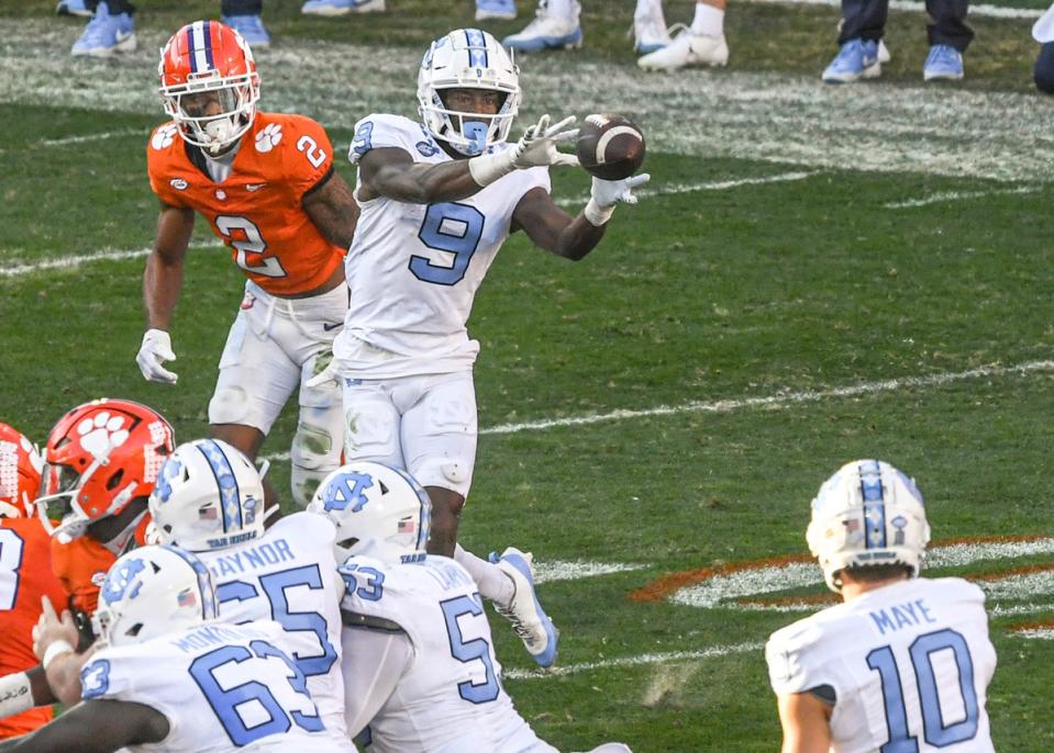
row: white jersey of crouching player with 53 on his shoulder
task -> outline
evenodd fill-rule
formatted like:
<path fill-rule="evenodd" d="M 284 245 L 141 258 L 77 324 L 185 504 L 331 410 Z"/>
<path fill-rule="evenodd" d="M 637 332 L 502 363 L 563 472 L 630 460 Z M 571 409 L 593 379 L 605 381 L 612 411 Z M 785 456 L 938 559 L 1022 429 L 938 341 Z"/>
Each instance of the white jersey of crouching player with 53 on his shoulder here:
<path fill-rule="evenodd" d="M 344 629 L 348 726 L 362 726 L 354 720 L 363 707 L 379 706 L 365 720 L 370 751 L 556 753 L 517 713 L 501 686 L 490 627 L 464 567 L 432 554 L 408 564 L 352 557 L 341 573 L 345 618 L 354 626 L 362 616 L 362 627 Z M 409 639 L 408 650 L 392 652 L 390 662 L 368 643 L 385 629 L 401 629 Z M 379 686 L 390 688 L 384 698 L 376 697 Z"/>

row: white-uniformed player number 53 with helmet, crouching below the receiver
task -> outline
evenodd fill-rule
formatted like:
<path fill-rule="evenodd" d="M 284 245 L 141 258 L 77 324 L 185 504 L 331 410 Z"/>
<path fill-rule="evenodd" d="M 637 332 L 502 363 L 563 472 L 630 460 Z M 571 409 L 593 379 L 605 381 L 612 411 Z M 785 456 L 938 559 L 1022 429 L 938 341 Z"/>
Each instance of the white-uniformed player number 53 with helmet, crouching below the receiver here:
<path fill-rule="evenodd" d="M 475 581 L 425 553 L 431 503 L 404 471 L 348 463 L 309 512 L 336 525 L 347 730 L 373 753 L 556 753 L 517 712 Z M 596 749 L 629 753 L 621 743 Z"/>

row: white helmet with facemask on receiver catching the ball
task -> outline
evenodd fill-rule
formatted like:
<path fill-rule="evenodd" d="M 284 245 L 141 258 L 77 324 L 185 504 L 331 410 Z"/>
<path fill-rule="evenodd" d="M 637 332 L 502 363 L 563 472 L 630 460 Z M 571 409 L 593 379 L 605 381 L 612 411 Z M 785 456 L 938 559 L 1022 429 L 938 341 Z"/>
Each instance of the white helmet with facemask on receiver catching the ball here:
<path fill-rule="evenodd" d="M 504 94 L 495 115 L 448 110 L 444 89 L 488 89 Z M 418 75 L 421 117 L 431 134 L 475 156 L 509 137 L 520 109 L 520 69 L 489 33 L 457 29 L 432 43 Z"/>

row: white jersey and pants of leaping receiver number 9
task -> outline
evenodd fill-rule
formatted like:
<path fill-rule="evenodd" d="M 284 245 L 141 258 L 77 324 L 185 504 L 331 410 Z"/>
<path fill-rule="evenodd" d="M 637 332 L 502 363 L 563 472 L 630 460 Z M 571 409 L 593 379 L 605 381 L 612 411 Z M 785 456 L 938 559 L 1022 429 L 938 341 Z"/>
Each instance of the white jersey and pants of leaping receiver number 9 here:
<path fill-rule="evenodd" d="M 352 162 L 377 148 L 419 164 L 452 161 L 425 127 L 374 114 L 356 125 Z M 499 144 L 491 149 L 511 148 Z M 512 213 L 529 191 L 550 190 L 545 167 L 514 170 L 456 202 L 378 196 L 362 215 L 344 261 L 352 300 L 333 351 L 344 386 L 346 457 L 407 469 L 423 486 L 467 495 L 476 454 L 468 337 L 473 300 Z M 360 194 L 362 181 L 356 186 Z"/>

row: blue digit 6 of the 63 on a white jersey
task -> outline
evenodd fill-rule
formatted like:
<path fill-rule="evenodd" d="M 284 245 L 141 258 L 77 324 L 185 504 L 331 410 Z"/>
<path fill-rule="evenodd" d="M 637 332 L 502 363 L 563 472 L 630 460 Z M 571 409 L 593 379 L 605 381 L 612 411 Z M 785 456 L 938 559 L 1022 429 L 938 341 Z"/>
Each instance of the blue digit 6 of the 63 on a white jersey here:
<path fill-rule="evenodd" d="M 260 642 L 254 641 L 253 644 Z M 256 645 L 253 645 L 253 649 L 256 650 Z M 224 690 L 217 681 L 213 674 L 217 668 L 231 662 L 241 664 L 253 659 L 253 655 L 243 645 L 225 645 L 222 649 L 198 656 L 190 665 L 190 675 L 198 683 L 198 687 L 201 688 L 209 706 L 212 707 L 220 723 L 223 724 L 231 742 L 238 748 L 269 734 L 280 734 L 292 727 L 289 715 L 286 713 L 278 699 L 263 683 L 251 679 Z M 245 724 L 237 712 L 237 707 L 248 701 L 259 704 L 268 715 L 267 721 L 253 727 Z"/>

